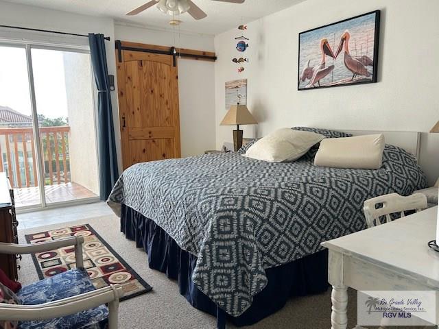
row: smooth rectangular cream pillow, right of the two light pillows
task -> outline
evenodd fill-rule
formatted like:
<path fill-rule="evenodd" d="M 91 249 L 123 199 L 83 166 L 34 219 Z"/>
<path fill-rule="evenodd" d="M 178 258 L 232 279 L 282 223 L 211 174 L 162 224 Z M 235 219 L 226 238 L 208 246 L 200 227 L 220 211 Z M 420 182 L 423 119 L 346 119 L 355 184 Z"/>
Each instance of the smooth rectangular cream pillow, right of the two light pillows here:
<path fill-rule="evenodd" d="M 383 160 L 384 135 L 327 138 L 314 158 L 316 166 L 379 169 Z"/>

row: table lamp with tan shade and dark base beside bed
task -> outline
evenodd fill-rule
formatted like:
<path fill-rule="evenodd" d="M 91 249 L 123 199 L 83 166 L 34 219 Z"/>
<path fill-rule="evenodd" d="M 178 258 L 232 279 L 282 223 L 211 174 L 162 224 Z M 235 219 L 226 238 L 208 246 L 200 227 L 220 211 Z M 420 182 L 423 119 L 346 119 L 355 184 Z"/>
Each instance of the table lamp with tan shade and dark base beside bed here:
<path fill-rule="evenodd" d="M 236 125 L 236 130 L 233 130 L 233 148 L 235 152 L 242 146 L 242 130 L 239 130 L 239 125 L 256 125 L 257 121 L 254 119 L 247 106 L 237 103 L 230 106 L 224 119 L 219 125 Z"/>

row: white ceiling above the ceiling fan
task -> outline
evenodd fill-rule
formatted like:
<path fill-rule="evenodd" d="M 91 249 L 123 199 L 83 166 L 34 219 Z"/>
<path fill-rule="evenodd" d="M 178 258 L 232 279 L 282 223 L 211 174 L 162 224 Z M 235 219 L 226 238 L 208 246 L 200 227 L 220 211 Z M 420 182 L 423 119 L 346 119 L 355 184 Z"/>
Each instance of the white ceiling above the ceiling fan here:
<path fill-rule="evenodd" d="M 13 3 L 35 5 L 43 8 L 75 12 L 93 16 L 108 16 L 116 21 L 171 29 L 171 16 L 152 7 L 137 16 L 126 16 L 126 12 L 139 7 L 149 0 L 6 0 Z M 260 17 L 278 12 L 305 0 L 246 0 L 245 3 L 224 3 L 211 0 L 193 0 L 206 14 L 205 19 L 195 21 L 189 14 L 180 16 L 182 32 L 219 34 L 236 27 L 244 21 L 254 21 Z"/>

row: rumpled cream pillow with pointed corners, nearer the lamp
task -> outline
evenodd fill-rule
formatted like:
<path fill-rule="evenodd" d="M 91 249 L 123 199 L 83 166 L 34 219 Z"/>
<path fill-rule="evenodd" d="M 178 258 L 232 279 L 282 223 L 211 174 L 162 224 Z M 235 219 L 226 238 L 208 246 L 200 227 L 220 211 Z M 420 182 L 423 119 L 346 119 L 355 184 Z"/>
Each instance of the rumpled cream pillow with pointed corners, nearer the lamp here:
<path fill-rule="evenodd" d="M 282 128 L 254 143 L 244 156 L 268 162 L 294 161 L 323 138 L 315 132 Z"/>

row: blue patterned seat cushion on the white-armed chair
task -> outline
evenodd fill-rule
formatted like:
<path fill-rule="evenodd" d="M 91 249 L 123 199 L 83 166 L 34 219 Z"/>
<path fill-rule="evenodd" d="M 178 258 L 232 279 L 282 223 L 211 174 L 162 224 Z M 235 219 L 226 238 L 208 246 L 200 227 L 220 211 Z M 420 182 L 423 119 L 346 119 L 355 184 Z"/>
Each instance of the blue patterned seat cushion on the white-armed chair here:
<path fill-rule="evenodd" d="M 95 290 L 84 269 L 71 269 L 23 287 L 17 296 L 23 305 L 37 305 Z M 105 305 L 74 315 L 43 321 L 24 321 L 19 328 L 107 328 L 108 308 Z"/>

